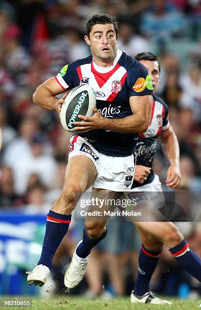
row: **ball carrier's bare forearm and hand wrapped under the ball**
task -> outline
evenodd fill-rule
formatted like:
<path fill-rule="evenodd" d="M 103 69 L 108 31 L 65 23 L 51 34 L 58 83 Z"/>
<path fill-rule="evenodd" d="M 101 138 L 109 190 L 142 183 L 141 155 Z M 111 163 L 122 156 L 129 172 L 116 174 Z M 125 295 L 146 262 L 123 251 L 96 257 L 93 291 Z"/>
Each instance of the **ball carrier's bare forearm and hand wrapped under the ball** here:
<path fill-rule="evenodd" d="M 82 133 L 94 129 L 105 129 L 125 133 L 145 132 L 150 123 L 152 101 L 151 95 L 130 97 L 129 103 L 133 115 L 123 119 L 104 118 L 98 110 L 93 107 L 94 114 L 92 117 L 78 115 L 83 121 L 75 122 L 75 125 L 77 125 L 76 130 Z"/>

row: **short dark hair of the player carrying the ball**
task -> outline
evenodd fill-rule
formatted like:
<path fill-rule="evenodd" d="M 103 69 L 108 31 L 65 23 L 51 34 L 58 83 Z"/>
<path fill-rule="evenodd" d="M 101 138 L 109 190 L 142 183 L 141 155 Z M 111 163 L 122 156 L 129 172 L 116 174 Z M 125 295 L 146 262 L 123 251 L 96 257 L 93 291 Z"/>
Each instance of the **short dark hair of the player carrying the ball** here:
<path fill-rule="evenodd" d="M 86 35 L 89 38 L 89 34 L 91 32 L 91 29 L 96 24 L 112 24 L 114 25 L 116 36 L 118 34 L 118 21 L 116 20 L 116 17 L 111 16 L 109 14 L 96 14 L 93 15 L 86 24 Z"/>

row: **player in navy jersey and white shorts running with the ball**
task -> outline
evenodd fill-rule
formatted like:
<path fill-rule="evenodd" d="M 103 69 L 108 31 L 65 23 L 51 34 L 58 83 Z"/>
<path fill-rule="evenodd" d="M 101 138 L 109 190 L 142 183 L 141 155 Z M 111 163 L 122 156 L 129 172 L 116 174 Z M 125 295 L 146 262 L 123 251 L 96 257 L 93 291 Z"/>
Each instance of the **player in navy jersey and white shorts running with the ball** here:
<path fill-rule="evenodd" d="M 45 283 L 55 252 L 68 231 L 71 212 L 87 188 L 92 185 L 92 195 L 99 199 L 119 199 L 122 192 L 131 189 L 134 169 L 129 168 L 135 163 L 137 133 L 146 131 L 150 122 L 153 86 L 146 68 L 117 49 L 118 37 L 115 18 L 107 14 L 91 17 L 84 38 L 92 55 L 65 65 L 56 78 L 41 84 L 33 95 L 34 103 L 60 112 L 66 95 L 61 99 L 55 96 L 88 84 L 96 94 L 96 108 L 92 117 L 80 115 L 83 121 L 75 122 L 78 135 L 71 139 L 64 188 L 47 214 L 41 257 L 28 273 L 29 285 Z M 134 85 L 140 81 L 147 83 L 137 92 Z M 79 275 L 84 275 L 88 260 L 88 254 L 82 256 L 82 252 L 90 252 L 105 238 L 105 225 L 95 222 L 84 230 L 83 244 L 65 277 L 68 288 L 81 281 Z M 74 282 L 75 275 L 78 280 Z"/>

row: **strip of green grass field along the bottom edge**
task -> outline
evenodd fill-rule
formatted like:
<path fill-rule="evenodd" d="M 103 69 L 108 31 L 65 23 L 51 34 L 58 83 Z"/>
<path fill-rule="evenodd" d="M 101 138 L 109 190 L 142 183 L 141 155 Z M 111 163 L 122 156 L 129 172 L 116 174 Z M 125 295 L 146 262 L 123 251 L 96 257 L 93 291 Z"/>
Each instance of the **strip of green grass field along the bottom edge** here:
<path fill-rule="evenodd" d="M 11 299 L 11 297 L 8 297 Z M 3 299 L 3 297 L 0 297 Z M 19 297 L 19 299 L 25 299 L 25 297 Z M 31 299 L 30 297 L 27 299 Z M 201 303 L 201 299 L 196 301 L 184 301 L 178 299 L 169 299 L 173 302 L 173 305 L 151 305 L 151 304 L 131 304 L 129 297 L 115 298 L 110 300 L 103 299 L 84 299 L 82 296 L 76 297 L 54 297 L 49 300 L 32 299 L 32 307 L 1 307 L 1 309 L 33 309 L 33 310 L 60 310 L 60 309 L 195 309 Z"/>

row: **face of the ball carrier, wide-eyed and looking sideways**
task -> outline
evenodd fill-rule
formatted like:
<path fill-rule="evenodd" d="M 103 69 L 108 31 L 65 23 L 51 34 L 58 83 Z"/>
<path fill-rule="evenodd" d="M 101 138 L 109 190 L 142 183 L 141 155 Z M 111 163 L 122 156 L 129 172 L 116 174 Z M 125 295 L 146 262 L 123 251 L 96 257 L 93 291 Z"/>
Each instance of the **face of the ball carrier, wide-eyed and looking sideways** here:
<path fill-rule="evenodd" d="M 117 40 L 113 24 L 96 24 L 92 27 L 89 37 L 84 36 L 91 48 L 91 53 L 97 64 L 113 61 L 117 55 Z"/>

